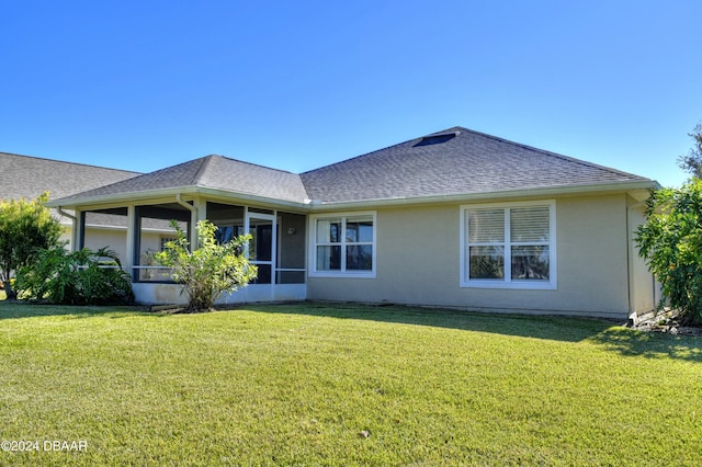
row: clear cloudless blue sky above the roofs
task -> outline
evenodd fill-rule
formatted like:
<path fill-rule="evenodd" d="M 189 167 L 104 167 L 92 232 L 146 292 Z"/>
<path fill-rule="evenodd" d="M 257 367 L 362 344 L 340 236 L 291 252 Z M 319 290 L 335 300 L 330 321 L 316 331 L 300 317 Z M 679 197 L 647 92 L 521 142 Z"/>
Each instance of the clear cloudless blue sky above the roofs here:
<path fill-rule="evenodd" d="M 0 0 L 0 151 L 302 172 L 460 125 L 678 185 L 701 18 L 699 0 Z"/>

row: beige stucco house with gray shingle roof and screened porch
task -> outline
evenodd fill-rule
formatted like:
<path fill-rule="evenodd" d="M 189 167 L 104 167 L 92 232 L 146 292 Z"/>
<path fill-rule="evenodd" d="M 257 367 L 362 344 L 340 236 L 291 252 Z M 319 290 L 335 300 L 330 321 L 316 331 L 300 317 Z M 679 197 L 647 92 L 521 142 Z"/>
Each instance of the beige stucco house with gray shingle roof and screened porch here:
<path fill-rule="evenodd" d="M 222 156 L 70 194 L 73 244 L 126 226 L 139 301 L 182 303 L 148 226 L 251 232 L 257 281 L 223 303 L 353 300 L 626 318 L 656 304 L 633 244 L 655 181 L 454 127 L 295 174 Z M 163 232 L 161 242 L 168 240 Z M 114 246 L 113 246 L 114 247 Z"/>

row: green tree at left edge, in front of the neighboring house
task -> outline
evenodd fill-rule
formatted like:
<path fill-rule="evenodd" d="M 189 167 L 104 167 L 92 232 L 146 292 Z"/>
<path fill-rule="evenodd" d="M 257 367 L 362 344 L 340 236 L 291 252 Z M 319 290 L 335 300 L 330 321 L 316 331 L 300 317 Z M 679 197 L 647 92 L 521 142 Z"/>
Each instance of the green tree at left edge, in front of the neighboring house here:
<path fill-rule="evenodd" d="M 0 201 L 0 282 L 8 298 L 15 298 L 10 280 L 32 264 L 38 251 L 59 246 L 61 226 L 44 206 L 48 193 L 34 201 Z"/>

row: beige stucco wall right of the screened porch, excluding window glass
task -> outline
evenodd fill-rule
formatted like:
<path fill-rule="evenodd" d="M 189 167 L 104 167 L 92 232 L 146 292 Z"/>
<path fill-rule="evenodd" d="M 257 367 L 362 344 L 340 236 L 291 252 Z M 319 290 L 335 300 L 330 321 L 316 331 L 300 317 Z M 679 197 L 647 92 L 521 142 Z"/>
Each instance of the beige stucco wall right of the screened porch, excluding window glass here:
<path fill-rule="evenodd" d="M 517 220 L 520 209 L 548 217 L 543 226 L 547 238 L 529 239 L 523 247 L 509 241 L 496 242 L 496 248 L 489 242 L 471 244 L 471 224 L 485 213 L 501 220 L 507 210 L 508 218 Z M 633 243 L 641 209 L 625 193 L 378 208 L 363 213 L 375 219 L 375 270 L 335 276 L 316 271 L 310 261 L 307 298 L 625 318 L 653 309 L 657 299 L 653 277 Z M 312 230 L 319 217 L 310 218 Z M 486 248 L 488 257 L 501 261 L 497 271 L 483 274 L 489 277 L 472 271 L 479 267 L 476 257 Z M 509 259 L 506 249 L 512 252 Z M 539 255 L 533 262 L 541 264 L 531 269 L 537 273 L 524 274 L 529 266 L 516 271 L 524 262 L 517 254 L 534 257 L 534 250 Z M 512 266 L 509 273 L 505 262 Z"/>

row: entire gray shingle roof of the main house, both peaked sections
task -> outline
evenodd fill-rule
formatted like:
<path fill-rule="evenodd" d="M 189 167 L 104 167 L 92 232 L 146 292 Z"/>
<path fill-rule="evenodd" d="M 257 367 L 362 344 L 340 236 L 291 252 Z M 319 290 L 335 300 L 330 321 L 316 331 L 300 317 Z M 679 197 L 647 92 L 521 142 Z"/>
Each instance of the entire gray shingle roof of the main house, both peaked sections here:
<path fill-rule="evenodd" d="M 605 186 L 645 190 L 657 183 L 456 126 L 302 174 L 207 156 L 52 204 L 70 206 L 205 189 L 331 207 L 339 203 Z"/>

